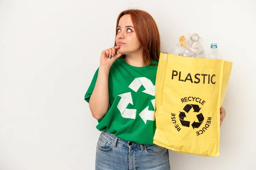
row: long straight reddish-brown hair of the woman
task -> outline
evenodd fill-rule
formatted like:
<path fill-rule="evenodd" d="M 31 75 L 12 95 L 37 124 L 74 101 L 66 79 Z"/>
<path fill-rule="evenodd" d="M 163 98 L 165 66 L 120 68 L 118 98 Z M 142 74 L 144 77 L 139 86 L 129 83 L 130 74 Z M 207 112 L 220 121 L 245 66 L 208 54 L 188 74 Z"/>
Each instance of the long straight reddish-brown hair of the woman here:
<path fill-rule="evenodd" d="M 131 15 L 134 30 L 140 44 L 142 45 L 142 56 L 145 65 L 153 64 L 152 60 L 158 61 L 160 55 L 160 35 L 153 17 L 147 12 L 138 9 L 122 11 L 116 21 L 116 35 L 119 20 L 126 14 Z M 122 57 L 125 57 L 125 55 Z"/>

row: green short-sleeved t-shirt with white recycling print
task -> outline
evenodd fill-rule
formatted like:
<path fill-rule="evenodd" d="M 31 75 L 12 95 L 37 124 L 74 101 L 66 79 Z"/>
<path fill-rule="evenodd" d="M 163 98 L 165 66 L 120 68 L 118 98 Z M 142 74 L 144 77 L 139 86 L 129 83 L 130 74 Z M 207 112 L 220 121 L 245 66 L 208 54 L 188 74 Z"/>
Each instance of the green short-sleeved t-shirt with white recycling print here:
<path fill-rule="evenodd" d="M 156 63 L 156 62 L 155 62 Z M 84 96 L 89 102 L 99 68 Z M 155 123 L 155 80 L 157 65 L 134 67 L 118 58 L 109 71 L 110 108 L 96 128 L 126 141 L 153 144 Z"/>

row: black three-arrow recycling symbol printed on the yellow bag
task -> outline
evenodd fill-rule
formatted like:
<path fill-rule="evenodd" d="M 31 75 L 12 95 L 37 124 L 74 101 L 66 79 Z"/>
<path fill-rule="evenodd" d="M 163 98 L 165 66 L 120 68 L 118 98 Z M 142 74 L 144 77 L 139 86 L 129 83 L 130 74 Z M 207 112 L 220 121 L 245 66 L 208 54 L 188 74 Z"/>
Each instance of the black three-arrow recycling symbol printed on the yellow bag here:
<path fill-rule="evenodd" d="M 184 110 L 186 113 L 191 114 L 191 113 L 189 113 L 189 111 L 190 111 L 192 108 L 193 108 L 193 110 L 194 110 L 195 113 L 199 113 L 199 111 L 201 110 L 201 108 L 199 108 L 198 105 L 192 105 L 192 104 L 187 104 L 187 105 L 183 108 L 183 110 Z M 186 113 L 185 113 L 185 112 L 180 112 L 180 114 L 179 114 L 180 123 L 181 123 L 181 125 L 183 125 L 183 126 L 189 127 L 190 122 L 184 120 L 184 117 L 186 117 Z M 203 116 L 202 113 L 199 113 L 199 114 L 196 115 L 196 116 L 197 116 L 197 118 L 198 118 L 198 122 L 194 121 L 194 122 L 191 124 L 191 126 L 193 127 L 193 129 L 200 127 L 200 125 L 201 125 L 201 124 L 203 123 L 203 121 L 204 121 L 204 116 Z"/>

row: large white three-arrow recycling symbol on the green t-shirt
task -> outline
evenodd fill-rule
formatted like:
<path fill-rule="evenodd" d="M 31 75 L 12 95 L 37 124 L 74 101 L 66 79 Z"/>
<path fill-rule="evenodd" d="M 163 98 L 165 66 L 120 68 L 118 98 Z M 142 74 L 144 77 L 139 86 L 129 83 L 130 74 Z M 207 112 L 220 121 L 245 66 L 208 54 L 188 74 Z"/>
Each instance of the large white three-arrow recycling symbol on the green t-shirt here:
<path fill-rule="evenodd" d="M 151 96 L 155 96 L 155 85 L 153 85 L 151 80 L 146 77 L 135 78 L 129 85 L 129 88 L 131 88 L 131 90 L 137 92 L 141 86 L 143 86 L 145 88 L 145 90 L 142 91 L 143 93 L 151 95 Z M 118 96 L 121 97 L 121 99 L 117 105 L 117 108 L 119 109 L 119 111 L 121 113 L 121 116 L 123 118 L 127 118 L 127 119 L 135 119 L 137 110 L 127 108 L 129 103 L 131 105 L 133 105 L 131 92 L 119 94 Z M 154 107 L 154 111 L 148 110 L 149 106 L 147 106 L 145 109 L 143 109 L 143 111 L 141 111 L 139 113 L 139 116 L 141 117 L 141 119 L 143 119 L 145 124 L 146 124 L 147 120 L 150 120 L 150 121 L 155 120 L 155 116 L 154 116 L 154 113 L 156 110 L 155 99 L 151 100 L 151 103 Z"/>

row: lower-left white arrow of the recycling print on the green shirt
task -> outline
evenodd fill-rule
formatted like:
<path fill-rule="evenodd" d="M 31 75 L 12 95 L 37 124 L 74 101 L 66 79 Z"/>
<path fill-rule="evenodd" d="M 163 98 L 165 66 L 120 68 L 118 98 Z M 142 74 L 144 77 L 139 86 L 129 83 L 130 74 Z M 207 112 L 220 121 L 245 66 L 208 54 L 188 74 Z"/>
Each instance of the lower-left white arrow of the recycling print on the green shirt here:
<path fill-rule="evenodd" d="M 129 103 L 131 103 L 133 105 L 131 92 L 119 94 L 118 96 L 121 97 L 121 99 L 117 105 L 117 108 L 121 113 L 121 116 L 123 118 L 135 119 L 136 109 L 127 109 L 127 106 L 129 105 Z"/>

